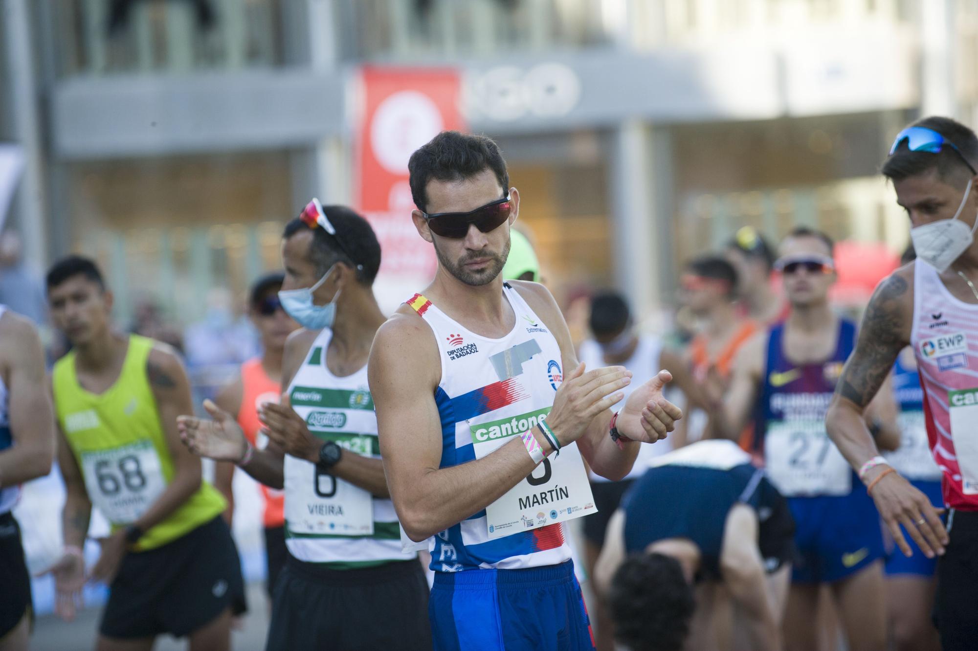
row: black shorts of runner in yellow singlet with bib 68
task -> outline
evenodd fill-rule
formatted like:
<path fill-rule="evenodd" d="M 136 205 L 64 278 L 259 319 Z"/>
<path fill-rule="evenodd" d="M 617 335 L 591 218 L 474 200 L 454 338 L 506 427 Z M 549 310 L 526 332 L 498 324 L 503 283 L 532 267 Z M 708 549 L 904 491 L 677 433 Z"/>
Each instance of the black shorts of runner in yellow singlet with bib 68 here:
<path fill-rule="evenodd" d="M 231 608 L 246 610 L 238 547 L 222 516 L 149 551 L 129 552 L 109 590 L 106 637 L 183 637 Z"/>

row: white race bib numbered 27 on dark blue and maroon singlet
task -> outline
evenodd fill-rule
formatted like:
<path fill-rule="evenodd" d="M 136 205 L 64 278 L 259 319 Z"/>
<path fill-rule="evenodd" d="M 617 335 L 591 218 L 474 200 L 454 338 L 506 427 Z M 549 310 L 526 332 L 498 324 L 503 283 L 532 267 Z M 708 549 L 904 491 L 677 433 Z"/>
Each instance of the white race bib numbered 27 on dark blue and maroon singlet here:
<path fill-rule="evenodd" d="M 848 495 L 852 470 L 822 421 L 771 423 L 764 439 L 768 477 L 781 495 Z"/>

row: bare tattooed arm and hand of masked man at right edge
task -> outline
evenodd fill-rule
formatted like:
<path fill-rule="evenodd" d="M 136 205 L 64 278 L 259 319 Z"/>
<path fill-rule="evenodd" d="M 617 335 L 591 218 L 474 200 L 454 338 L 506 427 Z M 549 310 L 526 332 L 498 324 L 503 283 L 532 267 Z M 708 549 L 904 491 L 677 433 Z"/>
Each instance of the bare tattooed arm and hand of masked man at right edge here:
<path fill-rule="evenodd" d="M 879 451 L 869 434 L 865 412 L 893 369 L 897 355 L 910 343 L 913 318 L 913 266 L 894 272 L 876 288 L 869 299 L 856 350 L 849 357 L 828 409 L 828 436 L 854 469 Z M 867 472 L 868 484 L 888 470 L 879 465 Z M 947 533 L 937 512 L 923 493 L 896 472 L 877 482 L 871 497 L 900 549 L 908 556 L 911 547 L 900 525 L 928 556 L 944 553 Z"/>

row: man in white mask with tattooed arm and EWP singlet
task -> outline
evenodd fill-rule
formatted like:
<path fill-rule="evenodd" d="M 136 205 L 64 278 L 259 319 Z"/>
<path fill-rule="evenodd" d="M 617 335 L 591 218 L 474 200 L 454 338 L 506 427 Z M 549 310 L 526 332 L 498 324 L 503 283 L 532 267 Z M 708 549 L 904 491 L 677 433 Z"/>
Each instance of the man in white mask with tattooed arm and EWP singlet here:
<path fill-rule="evenodd" d="M 904 532 L 938 561 L 941 646 L 978 639 L 978 138 L 946 117 L 898 134 L 882 172 L 911 220 L 917 259 L 876 288 L 859 343 L 827 417 L 829 435 L 860 472 L 906 554 Z M 930 500 L 879 456 L 863 410 L 911 345 L 924 391 L 930 451 L 942 471 L 947 530 Z"/>

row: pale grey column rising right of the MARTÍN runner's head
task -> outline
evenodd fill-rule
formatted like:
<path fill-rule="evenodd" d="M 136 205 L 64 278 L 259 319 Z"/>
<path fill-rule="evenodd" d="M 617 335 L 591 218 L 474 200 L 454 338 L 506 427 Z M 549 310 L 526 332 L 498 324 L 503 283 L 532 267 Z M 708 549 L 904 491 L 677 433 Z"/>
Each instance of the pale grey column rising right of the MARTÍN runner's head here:
<path fill-rule="evenodd" d="M 672 294 L 670 133 L 629 120 L 612 132 L 610 151 L 615 283 L 644 319 Z"/>

